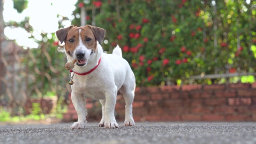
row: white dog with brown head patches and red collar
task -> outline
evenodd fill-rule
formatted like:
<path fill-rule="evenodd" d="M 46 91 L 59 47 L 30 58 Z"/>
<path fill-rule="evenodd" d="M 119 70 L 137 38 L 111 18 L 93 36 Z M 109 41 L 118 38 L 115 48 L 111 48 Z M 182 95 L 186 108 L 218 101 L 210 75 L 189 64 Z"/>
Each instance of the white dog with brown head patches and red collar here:
<path fill-rule="evenodd" d="M 78 121 L 71 129 L 85 128 L 85 97 L 100 100 L 102 119 L 99 126 L 118 128 L 114 116 L 116 96 L 121 92 L 125 100 L 124 126 L 135 126 L 132 116 L 135 76 L 128 62 L 122 58 L 122 50 L 117 45 L 112 54 L 103 52 L 102 41 L 105 30 L 96 26 L 69 26 L 56 31 L 56 36 L 65 50 L 68 62 L 76 60 L 71 85 L 71 99 L 78 114 Z M 100 44 L 99 44 L 100 43 Z"/>

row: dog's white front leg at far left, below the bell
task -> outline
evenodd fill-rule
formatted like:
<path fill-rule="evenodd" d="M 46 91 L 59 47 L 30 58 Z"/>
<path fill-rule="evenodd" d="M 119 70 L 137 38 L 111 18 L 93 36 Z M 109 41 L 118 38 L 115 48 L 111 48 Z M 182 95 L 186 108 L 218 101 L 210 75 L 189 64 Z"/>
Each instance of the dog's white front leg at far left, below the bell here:
<path fill-rule="evenodd" d="M 78 120 L 74 122 L 74 124 L 70 127 L 71 129 L 80 129 L 85 128 L 86 120 L 86 107 L 85 107 L 85 99 L 84 94 L 73 92 L 71 93 L 71 99 L 76 109 Z"/>

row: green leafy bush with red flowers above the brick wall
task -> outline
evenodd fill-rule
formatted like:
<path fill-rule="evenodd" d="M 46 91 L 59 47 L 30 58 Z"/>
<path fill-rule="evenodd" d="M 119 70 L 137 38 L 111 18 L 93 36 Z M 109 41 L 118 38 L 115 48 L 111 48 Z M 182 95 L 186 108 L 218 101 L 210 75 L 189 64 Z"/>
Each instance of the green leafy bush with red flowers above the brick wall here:
<path fill-rule="evenodd" d="M 202 73 L 255 71 L 256 2 L 101 0 L 90 5 L 98 8 L 96 26 L 106 29 L 104 50 L 111 52 L 116 44 L 122 48 L 137 86 L 178 79 L 200 83 L 187 79 Z M 87 14 L 92 17 L 92 12 Z M 72 23 L 80 24 L 79 19 Z"/>

